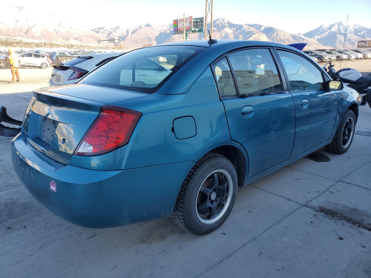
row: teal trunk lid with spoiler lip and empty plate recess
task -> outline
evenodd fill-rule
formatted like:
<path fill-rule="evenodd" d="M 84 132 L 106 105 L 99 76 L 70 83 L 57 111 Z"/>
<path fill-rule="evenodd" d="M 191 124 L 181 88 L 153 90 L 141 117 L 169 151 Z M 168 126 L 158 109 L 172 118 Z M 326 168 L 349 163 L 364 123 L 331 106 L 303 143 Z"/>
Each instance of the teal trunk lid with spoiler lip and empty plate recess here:
<path fill-rule="evenodd" d="M 68 164 L 102 106 L 146 95 L 78 84 L 35 90 L 22 132 L 26 133 L 27 141 L 34 148 Z"/>

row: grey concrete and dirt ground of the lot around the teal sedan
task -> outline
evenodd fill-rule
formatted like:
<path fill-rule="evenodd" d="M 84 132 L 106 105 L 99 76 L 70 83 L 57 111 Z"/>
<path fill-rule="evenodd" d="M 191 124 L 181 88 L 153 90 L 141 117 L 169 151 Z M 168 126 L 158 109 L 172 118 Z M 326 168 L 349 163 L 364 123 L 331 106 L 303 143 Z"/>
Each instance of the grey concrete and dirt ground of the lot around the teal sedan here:
<path fill-rule="evenodd" d="M 371 60 L 342 63 L 370 71 Z M 50 69 L 0 82 L 0 106 L 22 119 L 30 90 Z M 10 80 L 10 70 L 0 70 Z M 168 217 L 88 229 L 53 215 L 14 173 L 0 137 L 0 277 L 371 277 L 371 109 L 362 106 L 351 148 L 324 149 L 239 188 L 227 221 L 194 236 Z"/>

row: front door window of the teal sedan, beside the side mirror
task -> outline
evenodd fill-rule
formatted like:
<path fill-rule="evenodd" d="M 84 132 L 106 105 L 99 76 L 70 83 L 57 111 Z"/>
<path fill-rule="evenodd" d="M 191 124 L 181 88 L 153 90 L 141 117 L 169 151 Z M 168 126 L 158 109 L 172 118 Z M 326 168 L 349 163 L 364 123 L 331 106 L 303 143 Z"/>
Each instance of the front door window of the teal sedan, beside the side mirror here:
<path fill-rule="evenodd" d="M 321 70 L 298 54 L 277 50 L 288 76 L 291 91 L 322 90 L 324 80 Z"/>

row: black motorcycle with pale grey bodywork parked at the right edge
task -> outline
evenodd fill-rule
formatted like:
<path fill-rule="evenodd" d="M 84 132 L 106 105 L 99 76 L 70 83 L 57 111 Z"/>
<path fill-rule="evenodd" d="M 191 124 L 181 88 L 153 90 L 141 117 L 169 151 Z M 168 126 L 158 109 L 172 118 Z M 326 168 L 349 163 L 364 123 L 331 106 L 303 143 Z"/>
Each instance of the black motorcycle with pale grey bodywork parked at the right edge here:
<path fill-rule="evenodd" d="M 358 70 L 349 67 L 336 72 L 331 62 L 326 63 L 323 68 L 332 79 L 342 81 L 344 86 L 355 89 L 362 97 L 361 105 L 368 103 L 371 108 L 371 73 L 364 77 Z"/>

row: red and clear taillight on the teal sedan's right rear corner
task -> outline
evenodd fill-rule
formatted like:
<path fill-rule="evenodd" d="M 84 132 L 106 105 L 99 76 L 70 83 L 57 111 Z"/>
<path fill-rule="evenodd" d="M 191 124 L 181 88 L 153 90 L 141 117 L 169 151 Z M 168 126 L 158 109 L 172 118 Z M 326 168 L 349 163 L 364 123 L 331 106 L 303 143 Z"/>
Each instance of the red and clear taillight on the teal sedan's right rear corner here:
<path fill-rule="evenodd" d="M 103 106 L 74 154 L 99 155 L 126 145 L 141 115 L 126 108 Z"/>

